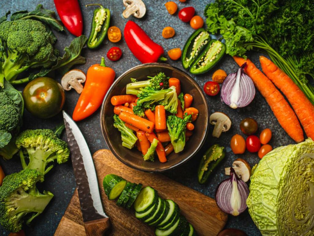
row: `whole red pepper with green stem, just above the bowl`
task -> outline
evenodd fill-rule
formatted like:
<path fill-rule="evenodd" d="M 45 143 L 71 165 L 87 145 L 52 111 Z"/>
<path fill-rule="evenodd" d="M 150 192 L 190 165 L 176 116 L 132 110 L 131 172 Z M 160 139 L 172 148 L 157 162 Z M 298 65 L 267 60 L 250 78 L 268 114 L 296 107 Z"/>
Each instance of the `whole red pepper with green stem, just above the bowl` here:
<path fill-rule="evenodd" d="M 157 62 L 158 59 L 167 60 L 162 57 L 164 49 L 131 20 L 124 27 L 124 39 L 133 55 L 142 63 Z"/>

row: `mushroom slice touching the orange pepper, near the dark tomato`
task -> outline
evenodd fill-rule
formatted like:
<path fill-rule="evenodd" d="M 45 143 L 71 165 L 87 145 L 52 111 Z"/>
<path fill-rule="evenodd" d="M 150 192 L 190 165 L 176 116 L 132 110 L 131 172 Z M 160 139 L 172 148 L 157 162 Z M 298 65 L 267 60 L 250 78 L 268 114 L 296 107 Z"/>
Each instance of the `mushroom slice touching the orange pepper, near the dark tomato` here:
<path fill-rule="evenodd" d="M 61 79 L 61 85 L 64 88 L 64 90 L 70 90 L 71 88 L 74 88 L 76 92 L 82 93 L 83 91 L 83 85 L 86 81 L 86 76 L 82 70 L 74 69 L 70 70 L 67 73 L 64 74 L 64 76 Z"/>

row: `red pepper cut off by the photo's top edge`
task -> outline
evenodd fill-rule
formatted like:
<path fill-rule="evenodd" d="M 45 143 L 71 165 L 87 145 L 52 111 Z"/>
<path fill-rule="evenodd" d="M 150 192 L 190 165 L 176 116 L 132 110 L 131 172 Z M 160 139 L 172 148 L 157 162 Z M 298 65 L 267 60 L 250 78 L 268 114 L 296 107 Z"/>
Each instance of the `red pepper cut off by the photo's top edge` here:
<path fill-rule="evenodd" d="M 83 33 L 83 18 L 78 0 L 54 0 L 63 25 L 76 37 Z"/>

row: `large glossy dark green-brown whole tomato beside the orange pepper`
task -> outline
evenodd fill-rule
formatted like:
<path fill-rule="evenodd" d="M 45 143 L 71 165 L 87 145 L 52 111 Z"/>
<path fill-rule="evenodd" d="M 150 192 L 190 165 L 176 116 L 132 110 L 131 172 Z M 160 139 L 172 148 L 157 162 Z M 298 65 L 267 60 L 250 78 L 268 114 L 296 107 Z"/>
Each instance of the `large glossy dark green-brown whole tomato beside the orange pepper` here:
<path fill-rule="evenodd" d="M 65 94 L 61 84 L 48 77 L 30 81 L 23 90 L 25 108 L 39 118 L 57 115 L 64 105 Z"/>

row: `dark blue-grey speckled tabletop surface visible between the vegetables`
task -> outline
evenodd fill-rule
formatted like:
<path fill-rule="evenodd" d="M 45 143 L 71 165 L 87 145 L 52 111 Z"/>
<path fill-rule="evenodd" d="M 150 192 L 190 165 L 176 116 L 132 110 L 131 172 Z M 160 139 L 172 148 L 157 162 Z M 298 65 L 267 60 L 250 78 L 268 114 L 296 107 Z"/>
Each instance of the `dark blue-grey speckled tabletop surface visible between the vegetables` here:
<path fill-rule="evenodd" d="M 178 8 L 181 9 L 187 6 L 193 6 L 196 9 L 196 14 L 203 17 L 203 10 L 207 3 L 211 0 L 188 0 L 186 3 L 180 3 L 178 0 L 174 0 L 178 4 Z M 80 1 L 81 9 L 84 18 L 84 34 L 89 35 L 90 23 L 95 7 L 85 8 L 84 5 L 88 3 L 101 3 L 104 7 L 107 7 L 111 11 L 111 23 L 110 25 L 118 26 L 123 32 L 124 25 L 127 19 L 122 17 L 122 11 L 124 6 L 122 0 L 111 0 L 111 1 Z M 183 48 L 185 41 L 189 35 L 193 32 L 193 29 L 188 23 L 184 23 L 179 20 L 177 13 L 170 15 L 167 13 L 164 3 L 166 0 L 144 0 L 147 12 L 142 19 L 136 19 L 130 17 L 130 20 L 135 21 L 140 25 L 148 35 L 154 39 L 155 42 L 162 45 L 167 52 L 171 48 Z M 38 3 L 43 4 L 45 8 L 56 10 L 52 0 L 11 0 L 11 1 L 0 1 L 0 15 L 4 15 L 8 10 L 11 12 L 19 10 L 33 10 Z M 203 19 L 205 19 L 203 17 Z M 165 26 L 172 26 L 176 30 L 176 35 L 170 39 L 164 39 L 161 36 L 161 31 Z M 56 33 L 58 37 L 56 47 L 62 52 L 63 48 L 70 44 L 71 40 L 74 38 L 68 31 L 64 33 Z M 122 40 L 118 43 L 109 42 L 107 39 L 100 48 L 91 51 L 87 48 L 83 50 L 83 55 L 86 57 L 87 62 L 85 65 L 77 66 L 78 69 L 86 70 L 90 65 L 100 62 L 100 56 L 106 56 L 109 48 L 113 46 L 118 46 L 123 51 L 122 58 L 117 62 L 111 62 L 106 59 L 106 64 L 112 67 L 116 71 L 116 77 L 120 76 L 125 70 L 132 68 L 135 65 L 139 65 L 140 62 L 132 55 L 130 50 L 122 37 Z M 165 53 L 166 54 L 166 53 Z M 260 53 L 248 53 L 248 57 L 259 66 L 258 56 Z M 105 57 L 106 58 L 106 57 Z M 168 63 L 182 69 L 181 62 L 168 60 Z M 236 72 L 238 66 L 233 61 L 230 56 L 225 56 L 222 61 L 210 72 L 201 75 L 193 76 L 198 84 L 203 87 L 203 84 L 211 79 L 212 73 L 216 70 L 222 68 L 228 74 Z M 55 76 L 57 81 L 60 81 L 61 76 Z M 22 87 L 18 87 L 20 90 Z M 76 101 L 78 99 L 78 94 L 75 91 L 66 92 L 66 102 L 64 109 L 72 114 L 75 107 Z M 257 91 L 256 97 L 253 102 L 246 108 L 233 110 L 221 103 L 220 97 L 209 97 L 207 96 L 207 101 L 210 106 L 210 112 L 223 111 L 228 114 L 233 122 L 232 128 L 227 133 L 223 133 L 221 137 L 217 140 L 211 137 L 213 127 L 209 130 L 209 135 L 204 148 L 208 148 L 214 143 L 219 143 L 226 147 L 226 157 L 221 165 L 212 173 L 209 178 L 208 183 L 200 185 L 197 182 L 197 167 L 204 150 L 202 150 L 198 155 L 196 155 L 192 160 L 186 164 L 178 167 L 175 170 L 164 173 L 168 177 L 193 188 L 203 194 L 210 197 L 214 197 L 215 189 L 217 185 L 226 178 L 224 174 L 224 168 L 231 166 L 233 160 L 236 158 L 244 158 L 247 160 L 251 166 L 259 161 L 257 154 L 251 154 L 245 152 L 243 155 L 234 155 L 230 149 L 230 139 L 236 134 L 240 133 L 239 124 L 240 121 L 246 117 L 254 118 L 259 124 L 259 132 L 264 128 L 270 128 L 273 131 L 273 138 L 270 144 L 273 147 L 278 147 L 281 145 L 287 145 L 294 143 L 294 141 L 289 138 L 289 136 L 284 132 L 284 130 L 279 126 L 278 121 L 274 117 L 272 111 L 270 110 L 265 99 Z M 33 117 L 27 111 L 24 115 L 24 128 L 53 128 L 57 123 L 62 121 L 61 114 L 47 120 L 41 120 Z M 89 118 L 78 122 L 78 126 L 85 135 L 86 141 L 89 145 L 91 153 L 94 153 L 98 149 L 106 149 L 107 145 L 104 138 L 102 137 L 100 130 L 100 110 L 95 112 Z M 64 137 L 63 137 L 64 138 Z M 203 149 L 204 149 L 203 148 Z M 21 169 L 21 164 L 19 158 L 14 158 L 13 160 L 4 161 L 0 160 L 0 165 L 3 167 L 6 174 L 10 174 L 14 171 L 19 171 Z M 42 189 L 51 191 L 55 194 L 52 199 L 51 204 L 48 205 L 46 210 L 37 217 L 33 222 L 32 227 L 25 228 L 27 235 L 53 235 L 57 225 L 71 199 L 73 190 L 75 188 L 75 179 L 73 176 L 72 164 L 69 161 L 66 164 L 55 166 L 47 175 L 45 183 L 40 186 Z M 206 205 L 204 205 L 206 207 Z M 106 209 L 106 206 L 105 206 Z M 117 214 L 119 212 L 117 211 Z M 227 228 L 238 228 L 245 231 L 248 235 L 261 235 L 258 229 L 255 227 L 251 220 L 248 212 L 245 211 L 240 216 L 233 217 L 229 216 L 229 220 L 226 225 Z M 1 235 L 7 235 L 8 232 L 0 228 Z"/>

